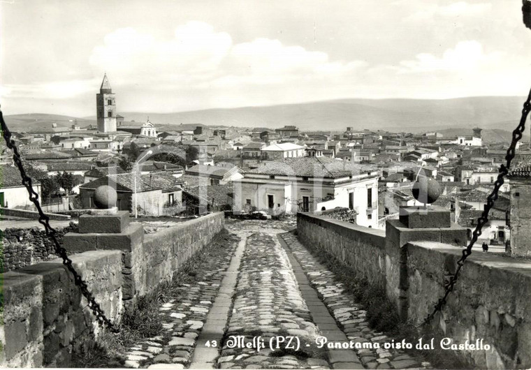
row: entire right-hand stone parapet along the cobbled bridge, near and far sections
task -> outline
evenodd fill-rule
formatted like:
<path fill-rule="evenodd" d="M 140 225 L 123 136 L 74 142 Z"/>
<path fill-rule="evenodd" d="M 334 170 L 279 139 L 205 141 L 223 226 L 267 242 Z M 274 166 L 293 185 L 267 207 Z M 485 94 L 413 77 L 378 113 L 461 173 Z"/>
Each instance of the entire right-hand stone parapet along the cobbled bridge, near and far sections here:
<path fill-rule="evenodd" d="M 446 235 L 448 242 L 418 242 L 431 237 L 434 231 L 411 230 L 400 235 L 390 223 L 396 226 L 399 221 L 389 221 L 386 233 L 299 213 L 297 232 L 303 242 L 352 267 L 356 276 L 372 284 L 383 284 L 391 302 L 399 302 L 398 309 L 405 309 L 406 315 L 402 317 L 417 325 L 442 297 L 444 281 L 455 272 L 461 247 L 447 244 L 452 232 Z M 443 315 L 438 316 L 432 327 L 433 334 L 443 334 L 458 344 L 483 339 L 483 344 L 491 346 L 490 350 L 457 352 L 479 369 L 530 368 L 530 297 L 529 261 L 472 253 L 449 295 Z"/>

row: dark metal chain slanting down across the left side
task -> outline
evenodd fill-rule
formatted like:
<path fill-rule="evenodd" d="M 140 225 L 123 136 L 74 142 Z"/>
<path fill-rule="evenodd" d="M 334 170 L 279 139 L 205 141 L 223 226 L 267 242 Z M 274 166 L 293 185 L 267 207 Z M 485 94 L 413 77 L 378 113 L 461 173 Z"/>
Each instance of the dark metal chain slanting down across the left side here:
<path fill-rule="evenodd" d="M 96 302 L 96 299 L 94 299 L 94 296 L 89 291 L 89 288 L 87 286 L 87 283 L 83 281 L 80 274 L 75 271 L 75 268 L 72 265 L 72 260 L 68 258 L 66 255 L 66 249 L 64 249 L 57 240 L 57 230 L 52 228 L 50 225 L 50 217 L 46 216 L 43 212 L 43 209 L 41 209 L 41 204 L 38 201 L 38 193 L 34 191 L 34 188 L 32 186 L 33 182 L 31 180 L 31 177 L 29 177 L 26 174 L 26 171 L 24 170 L 24 166 L 22 165 L 22 159 L 20 157 L 20 153 L 18 151 L 17 145 L 15 143 L 15 140 L 11 139 L 11 132 L 9 131 L 8 126 L 6 125 L 6 122 L 3 120 L 3 114 L 0 110 L 0 123 L 1 123 L 1 129 L 3 134 L 3 139 L 6 140 L 6 145 L 9 149 L 13 150 L 13 161 L 15 161 L 15 164 L 17 165 L 18 170 L 20 171 L 20 177 L 22 177 L 22 185 L 24 185 L 27 188 L 28 194 L 29 194 L 29 200 L 34 203 L 35 207 L 37 207 L 37 212 L 39 214 L 38 222 L 41 223 L 45 230 L 46 235 L 52 240 L 55 247 L 55 253 L 61 257 L 63 260 L 63 265 L 66 266 L 68 271 L 71 272 L 71 274 L 74 276 L 75 285 L 79 286 L 82 295 L 85 296 L 87 299 L 87 304 L 89 308 L 92 310 L 92 313 L 94 313 L 94 316 L 96 317 L 96 320 L 98 321 L 99 325 L 108 327 L 112 332 L 117 332 L 115 325 L 110 322 L 110 320 L 107 318 L 103 310 L 101 309 L 101 306 L 98 302 Z"/>

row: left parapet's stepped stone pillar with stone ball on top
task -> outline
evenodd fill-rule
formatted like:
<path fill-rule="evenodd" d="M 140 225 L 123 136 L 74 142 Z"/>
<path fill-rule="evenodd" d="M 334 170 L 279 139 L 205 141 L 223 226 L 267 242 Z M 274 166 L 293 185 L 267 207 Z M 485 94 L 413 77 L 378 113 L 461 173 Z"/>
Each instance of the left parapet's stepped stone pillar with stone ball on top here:
<path fill-rule="evenodd" d="M 122 299 L 126 301 L 132 299 L 136 292 L 133 253 L 143 245 L 144 227 L 141 223 L 130 223 L 129 212 L 118 211 L 113 206 L 115 202 L 116 191 L 113 188 L 97 188 L 94 203 L 101 209 L 92 209 L 90 214 L 80 216 L 78 232 L 64 235 L 63 246 L 66 251 L 76 253 L 97 249 L 122 251 Z"/>

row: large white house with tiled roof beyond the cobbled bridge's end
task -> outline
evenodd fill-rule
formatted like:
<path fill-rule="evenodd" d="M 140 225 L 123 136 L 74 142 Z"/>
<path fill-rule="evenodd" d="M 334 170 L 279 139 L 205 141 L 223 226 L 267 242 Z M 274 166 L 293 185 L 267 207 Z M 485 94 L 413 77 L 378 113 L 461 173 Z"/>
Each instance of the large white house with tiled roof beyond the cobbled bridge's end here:
<path fill-rule="evenodd" d="M 356 210 L 358 225 L 378 225 L 377 169 L 328 157 L 263 162 L 233 181 L 235 212 L 269 214 Z"/>

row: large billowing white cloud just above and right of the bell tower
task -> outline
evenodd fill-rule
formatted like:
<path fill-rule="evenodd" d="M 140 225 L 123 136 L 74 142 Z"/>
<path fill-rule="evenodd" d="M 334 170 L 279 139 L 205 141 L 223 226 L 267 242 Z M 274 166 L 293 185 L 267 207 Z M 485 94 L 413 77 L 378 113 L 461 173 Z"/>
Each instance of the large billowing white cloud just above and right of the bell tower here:
<path fill-rule="evenodd" d="M 94 47 L 89 63 L 108 71 L 119 84 L 134 79 L 186 82 L 190 73 L 213 73 L 231 45 L 231 36 L 215 32 L 204 22 L 177 27 L 169 40 L 128 27 L 105 36 L 103 45 Z"/>

